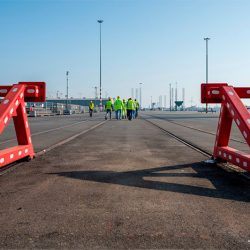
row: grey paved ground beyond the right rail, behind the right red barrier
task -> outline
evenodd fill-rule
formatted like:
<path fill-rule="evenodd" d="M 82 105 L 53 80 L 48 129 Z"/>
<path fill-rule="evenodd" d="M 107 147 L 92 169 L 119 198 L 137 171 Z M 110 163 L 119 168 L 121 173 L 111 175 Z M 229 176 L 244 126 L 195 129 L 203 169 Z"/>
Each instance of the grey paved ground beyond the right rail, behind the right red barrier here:
<path fill-rule="evenodd" d="M 219 113 L 154 111 L 143 112 L 142 117 L 149 119 L 210 154 L 213 153 Z M 232 125 L 229 146 L 250 153 L 249 146 L 234 123 Z"/>

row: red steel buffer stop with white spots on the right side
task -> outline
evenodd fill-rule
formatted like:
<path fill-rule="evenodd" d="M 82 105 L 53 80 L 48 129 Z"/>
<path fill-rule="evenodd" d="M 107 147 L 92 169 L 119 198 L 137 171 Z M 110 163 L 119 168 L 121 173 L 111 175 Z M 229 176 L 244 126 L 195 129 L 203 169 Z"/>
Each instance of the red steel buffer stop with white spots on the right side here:
<path fill-rule="evenodd" d="M 203 83 L 201 85 L 202 103 L 221 103 L 213 152 L 214 159 L 230 162 L 250 171 L 250 154 L 228 146 L 233 121 L 250 146 L 250 113 L 241 98 L 250 98 L 250 88 L 232 87 L 227 83 Z"/>

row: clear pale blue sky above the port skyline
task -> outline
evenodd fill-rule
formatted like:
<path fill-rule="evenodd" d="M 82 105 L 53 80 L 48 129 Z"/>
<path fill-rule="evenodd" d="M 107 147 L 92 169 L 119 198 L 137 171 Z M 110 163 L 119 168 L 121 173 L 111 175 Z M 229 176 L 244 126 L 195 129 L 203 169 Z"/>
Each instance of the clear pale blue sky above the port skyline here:
<path fill-rule="evenodd" d="M 129 97 L 143 83 L 150 96 L 169 95 L 169 83 L 199 104 L 209 41 L 209 81 L 250 85 L 250 1 L 4 1 L 0 0 L 0 83 L 46 81 L 48 96 L 93 97 L 99 85 L 102 18 L 103 88 Z M 179 95 L 181 98 L 181 93 Z M 179 99 L 180 99 L 179 98 Z"/>

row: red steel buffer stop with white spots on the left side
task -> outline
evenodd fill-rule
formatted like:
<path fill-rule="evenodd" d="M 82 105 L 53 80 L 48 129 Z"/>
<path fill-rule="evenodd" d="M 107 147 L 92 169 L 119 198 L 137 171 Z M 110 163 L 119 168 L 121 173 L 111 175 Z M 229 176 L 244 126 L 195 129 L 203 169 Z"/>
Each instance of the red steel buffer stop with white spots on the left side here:
<path fill-rule="evenodd" d="M 0 150 L 0 168 L 22 158 L 34 157 L 25 102 L 45 101 L 44 82 L 19 82 L 13 86 L 0 86 L 0 133 L 11 118 L 16 130 L 18 146 Z"/>

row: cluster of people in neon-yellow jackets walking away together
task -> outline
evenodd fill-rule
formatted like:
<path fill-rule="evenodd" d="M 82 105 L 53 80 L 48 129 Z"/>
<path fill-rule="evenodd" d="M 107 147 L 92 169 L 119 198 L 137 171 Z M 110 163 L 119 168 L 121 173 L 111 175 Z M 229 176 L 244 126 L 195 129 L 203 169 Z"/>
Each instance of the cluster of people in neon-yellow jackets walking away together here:
<path fill-rule="evenodd" d="M 115 111 L 115 118 L 121 119 L 136 119 L 138 117 L 140 104 L 136 99 L 129 98 L 127 101 L 117 96 L 117 99 L 113 101 L 110 97 L 105 104 L 106 115 L 105 119 L 112 118 L 112 111 Z"/>

